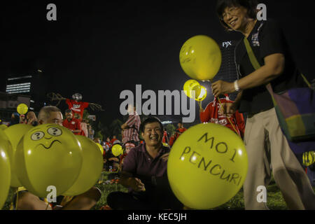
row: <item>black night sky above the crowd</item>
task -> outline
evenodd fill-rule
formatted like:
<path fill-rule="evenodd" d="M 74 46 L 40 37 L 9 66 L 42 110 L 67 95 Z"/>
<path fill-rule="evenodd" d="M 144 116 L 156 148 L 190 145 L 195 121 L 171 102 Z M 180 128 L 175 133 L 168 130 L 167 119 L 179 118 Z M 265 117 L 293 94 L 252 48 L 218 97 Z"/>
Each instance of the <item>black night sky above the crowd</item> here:
<path fill-rule="evenodd" d="M 267 5 L 267 17 L 283 25 L 297 65 L 312 80 L 314 0 L 260 2 Z M 48 3 L 56 4 L 57 21 L 46 20 Z M 41 69 L 47 92 L 64 97 L 80 92 L 83 101 L 103 106 L 106 111 L 90 113 L 104 123 L 121 118 L 120 92 L 135 91 L 136 84 L 141 84 L 143 91 L 182 90 L 190 78 L 179 64 L 179 50 L 188 38 L 198 34 L 217 42 L 241 38 L 241 34 L 229 34 L 221 27 L 215 3 L 1 2 L 0 91 L 5 91 L 8 74 Z"/>

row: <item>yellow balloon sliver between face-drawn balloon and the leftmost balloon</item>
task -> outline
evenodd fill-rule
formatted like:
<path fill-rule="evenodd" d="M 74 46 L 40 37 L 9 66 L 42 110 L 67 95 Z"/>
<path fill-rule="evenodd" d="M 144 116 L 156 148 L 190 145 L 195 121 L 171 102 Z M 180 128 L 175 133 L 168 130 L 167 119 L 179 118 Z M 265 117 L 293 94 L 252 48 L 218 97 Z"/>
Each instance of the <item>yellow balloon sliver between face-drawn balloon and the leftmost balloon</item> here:
<path fill-rule="evenodd" d="M 16 152 L 16 147 L 18 146 L 19 141 L 22 139 L 23 135 L 31 130 L 33 126 L 31 125 L 25 125 L 25 124 L 18 124 L 18 125 L 12 125 L 8 127 L 6 130 L 4 130 L 4 133 L 10 140 L 10 143 L 12 144 L 12 148 L 8 151 L 9 158 L 10 158 L 10 165 L 11 165 L 11 183 L 10 186 L 13 188 L 19 188 L 22 187 L 22 184 L 18 180 L 18 176 L 16 176 L 15 171 L 15 163 L 14 163 L 14 156 Z"/>

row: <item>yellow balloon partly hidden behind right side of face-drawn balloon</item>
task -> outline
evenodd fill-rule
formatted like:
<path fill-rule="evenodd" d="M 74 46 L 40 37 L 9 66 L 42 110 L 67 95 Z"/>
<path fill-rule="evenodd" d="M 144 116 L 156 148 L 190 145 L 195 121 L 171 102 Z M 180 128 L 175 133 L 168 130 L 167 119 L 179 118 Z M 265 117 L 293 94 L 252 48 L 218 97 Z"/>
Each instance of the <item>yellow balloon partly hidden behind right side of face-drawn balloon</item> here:
<path fill-rule="evenodd" d="M 84 136 L 77 135 L 76 138 L 82 147 L 83 164 L 76 182 L 63 193 L 66 196 L 80 195 L 90 190 L 97 183 L 103 169 L 103 157 L 99 153 L 99 146 L 101 145 L 97 146 L 94 141 Z"/>

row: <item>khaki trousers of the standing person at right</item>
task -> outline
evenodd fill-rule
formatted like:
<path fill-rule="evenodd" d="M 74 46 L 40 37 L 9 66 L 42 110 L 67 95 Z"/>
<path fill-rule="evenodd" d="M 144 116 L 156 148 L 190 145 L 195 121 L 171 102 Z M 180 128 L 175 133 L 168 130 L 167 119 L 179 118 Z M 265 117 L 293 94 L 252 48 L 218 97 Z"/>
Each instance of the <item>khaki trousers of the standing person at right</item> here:
<path fill-rule="evenodd" d="M 267 188 L 271 167 L 274 181 L 288 209 L 315 209 L 314 190 L 282 134 L 274 109 L 247 118 L 244 142 L 248 155 L 248 174 L 244 182 L 245 209 L 268 209 L 267 203 L 258 202 L 257 196 L 261 191 L 257 188 Z"/>

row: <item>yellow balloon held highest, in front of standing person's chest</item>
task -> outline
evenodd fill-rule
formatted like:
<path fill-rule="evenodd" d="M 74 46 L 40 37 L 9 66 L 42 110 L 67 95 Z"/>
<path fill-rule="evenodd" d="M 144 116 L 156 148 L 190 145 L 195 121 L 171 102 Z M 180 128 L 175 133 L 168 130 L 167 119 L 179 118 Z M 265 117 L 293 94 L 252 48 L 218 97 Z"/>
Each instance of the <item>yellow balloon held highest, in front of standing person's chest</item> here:
<path fill-rule="evenodd" d="M 195 80 L 211 80 L 216 76 L 222 61 L 218 43 L 209 36 L 198 35 L 183 44 L 179 61 L 185 73 Z"/>

